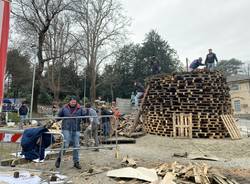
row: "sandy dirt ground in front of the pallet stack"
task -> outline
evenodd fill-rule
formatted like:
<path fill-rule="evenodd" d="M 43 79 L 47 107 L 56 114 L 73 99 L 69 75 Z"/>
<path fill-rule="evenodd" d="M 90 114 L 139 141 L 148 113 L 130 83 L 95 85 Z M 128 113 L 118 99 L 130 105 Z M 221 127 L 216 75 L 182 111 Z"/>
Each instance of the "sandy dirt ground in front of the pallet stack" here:
<path fill-rule="evenodd" d="M 137 166 L 147 168 L 161 163 L 177 161 L 181 164 L 190 162 L 189 158 L 173 157 L 174 153 L 187 152 L 189 155 L 208 155 L 217 157 L 219 161 L 205 162 L 218 169 L 222 174 L 236 179 L 240 184 L 250 183 L 250 138 L 241 140 L 209 140 L 209 139 L 172 139 L 154 135 L 138 138 L 136 144 L 119 146 L 119 159 L 115 158 L 115 150 L 100 150 L 99 152 L 82 150 L 80 154 L 82 169 L 73 168 L 72 157 L 65 156 L 61 173 L 70 177 L 77 184 L 114 184 L 120 180 L 108 178 L 106 171 L 121 168 L 121 160 L 129 155 L 137 161 Z M 22 165 L 29 169 L 55 170 L 55 160 L 45 163 Z M 89 170 L 93 169 L 93 173 Z M 126 183 L 131 183 L 126 181 Z"/>

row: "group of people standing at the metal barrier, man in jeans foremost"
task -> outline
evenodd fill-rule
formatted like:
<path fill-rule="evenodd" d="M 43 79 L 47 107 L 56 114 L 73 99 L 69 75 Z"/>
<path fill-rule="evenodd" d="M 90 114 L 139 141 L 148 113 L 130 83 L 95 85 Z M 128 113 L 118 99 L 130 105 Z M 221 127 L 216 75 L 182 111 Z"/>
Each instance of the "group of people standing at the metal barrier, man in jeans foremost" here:
<path fill-rule="evenodd" d="M 87 128 L 84 131 L 84 138 L 86 143 L 93 137 L 95 141 L 95 147 L 99 145 L 98 127 L 100 125 L 100 119 L 98 114 L 101 115 L 101 124 L 103 128 L 103 135 L 107 138 L 110 135 L 110 116 L 114 115 L 115 118 L 119 118 L 120 113 L 115 107 L 115 102 L 112 102 L 111 111 L 103 105 L 98 112 L 91 107 L 91 104 L 86 104 L 84 108 L 77 102 L 76 97 L 72 96 L 69 103 L 62 107 L 58 112 L 58 117 L 62 117 L 62 133 L 64 135 L 64 148 L 68 148 L 70 144 L 73 146 L 73 163 L 74 167 L 81 169 L 79 163 L 79 148 L 80 148 L 80 129 L 81 123 L 87 123 Z M 88 146 L 88 145 L 87 145 Z M 98 151 L 98 148 L 96 148 Z M 61 154 L 59 154 L 55 166 L 60 167 Z"/>

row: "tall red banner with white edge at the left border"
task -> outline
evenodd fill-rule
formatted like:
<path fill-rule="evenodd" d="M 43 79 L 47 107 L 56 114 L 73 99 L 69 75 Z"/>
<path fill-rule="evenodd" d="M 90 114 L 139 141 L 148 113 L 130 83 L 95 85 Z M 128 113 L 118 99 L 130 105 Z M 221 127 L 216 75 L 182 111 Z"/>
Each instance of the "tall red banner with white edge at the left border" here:
<path fill-rule="evenodd" d="M 4 96 L 4 76 L 9 38 L 10 2 L 0 0 L 0 112 Z"/>

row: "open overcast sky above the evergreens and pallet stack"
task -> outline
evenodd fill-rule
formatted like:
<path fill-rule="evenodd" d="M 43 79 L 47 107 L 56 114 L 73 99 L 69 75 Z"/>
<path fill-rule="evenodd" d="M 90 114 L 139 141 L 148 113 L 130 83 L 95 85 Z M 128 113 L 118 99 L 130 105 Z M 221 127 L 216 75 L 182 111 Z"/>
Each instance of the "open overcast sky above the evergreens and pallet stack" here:
<path fill-rule="evenodd" d="M 250 0 L 120 0 L 132 19 L 131 41 L 155 29 L 181 61 L 205 58 L 250 61 Z"/>

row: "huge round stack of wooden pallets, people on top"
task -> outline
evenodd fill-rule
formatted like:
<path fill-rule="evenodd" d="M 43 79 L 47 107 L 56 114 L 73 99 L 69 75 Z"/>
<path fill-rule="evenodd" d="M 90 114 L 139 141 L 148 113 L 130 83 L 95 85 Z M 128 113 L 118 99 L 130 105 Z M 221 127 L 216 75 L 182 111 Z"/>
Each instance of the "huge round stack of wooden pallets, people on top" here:
<path fill-rule="evenodd" d="M 146 132 L 173 136 L 173 115 L 192 114 L 193 138 L 224 138 L 228 131 L 220 115 L 231 114 L 226 79 L 220 72 L 161 75 L 147 81 L 143 106 Z"/>

